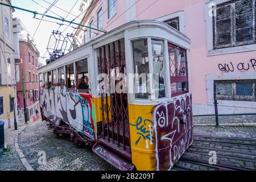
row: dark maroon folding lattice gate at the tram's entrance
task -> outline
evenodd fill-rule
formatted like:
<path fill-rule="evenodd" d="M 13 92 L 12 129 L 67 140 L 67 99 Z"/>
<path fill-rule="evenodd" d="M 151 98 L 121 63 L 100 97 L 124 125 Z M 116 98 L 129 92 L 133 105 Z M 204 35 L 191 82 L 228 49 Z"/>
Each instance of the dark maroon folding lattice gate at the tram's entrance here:
<path fill-rule="evenodd" d="M 101 85 L 102 138 L 101 143 L 130 154 L 130 131 L 124 39 L 98 48 L 98 70 L 107 82 Z"/>

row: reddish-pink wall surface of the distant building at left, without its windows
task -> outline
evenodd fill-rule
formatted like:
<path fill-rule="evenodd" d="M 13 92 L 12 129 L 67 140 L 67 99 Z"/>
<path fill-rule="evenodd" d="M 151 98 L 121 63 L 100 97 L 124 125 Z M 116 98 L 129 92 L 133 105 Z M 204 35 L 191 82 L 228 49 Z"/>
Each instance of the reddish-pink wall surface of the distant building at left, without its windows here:
<path fill-rule="evenodd" d="M 23 93 L 22 93 L 22 69 L 24 70 L 24 76 L 25 76 L 25 90 L 26 90 L 26 106 L 29 107 L 30 105 L 34 104 L 34 101 L 31 101 L 30 98 L 28 98 L 28 92 L 30 90 L 36 90 L 38 89 L 38 82 L 36 82 L 36 73 L 38 73 L 38 56 L 36 53 L 31 49 L 31 47 L 28 46 L 27 43 L 20 42 L 19 43 L 19 50 L 20 50 L 20 59 L 22 59 L 22 64 L 19 65 L 19 73 L 20 73 L 20 82 L 17 84 L 17 94 L 18 94 L 18 107 L 23 108 Z M 29 56 L 28 52 L 30 52 L 30 63 L 29 63 Z M 32 56 L 34 56 L 34 65 Z M 29 71 L 31 72 L 31 82 L 30 82 L 30 76 Z M 35 73 L 35 82 L 33 82 L 33 72 Z M 39 81 L 39 77 L 38 77 Z M 38 96 L 37 96 L 38 98 Z"/>

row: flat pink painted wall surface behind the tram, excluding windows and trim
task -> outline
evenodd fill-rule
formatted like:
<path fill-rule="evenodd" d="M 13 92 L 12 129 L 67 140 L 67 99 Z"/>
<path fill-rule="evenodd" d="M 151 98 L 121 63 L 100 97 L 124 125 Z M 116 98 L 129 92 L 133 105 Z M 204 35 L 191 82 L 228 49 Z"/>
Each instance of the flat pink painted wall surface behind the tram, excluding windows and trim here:
<path fill-rule="evenodd" d="M 251 59 L 256 59 L 256 51 L 241 53 L 235 52 L 224 55 L 208 56 L 205 3 L 209 1 L 161 0 L 157 1 L 156 3 L 154 2 L 155 0 L 138 1 L 135 6 L 135 16 L 137 16 L 136 20 L 156 19 L 164 15 L 175 13 L 177 11 L 184 11 L 184 34 L 187 35 L 189 39 L 191 39 L 191 51 L 189 52 L 189 71 L 191 79 L 191 91 L 193 94 L 193 104 L 207 105 L 206 76 L 209 73 L 223 73 L 218 67 L 219 64 L 229 64 L 231 61 L 235 67 L 234 72 L 239 72 L 237 69 L 238 64 L 245 63 L 245 65 L 247 65 L 247 63 L 250 63 Z M 103 11 L 106 11 L 106 0 L 100 1 L 98 4 L 101 5 L 101 3 L 103 4 Z M 90 15 L 94 17 L 96 24 L 96 10 L 98 9 L 99 5 L 97 5 L 96 9 L 94 9 Z M 125 13 L 125 9 L 127 9 L 125 6 L 125 1 L 117 1 L 117 14 L 109 22 L 106 22 L 107 11 L 104 13 L 104 29 L 107 31 L 112 30 L 113 28 L 126 23 L 126 16 L 133 16 L 133 14 Z M 118 16 L 120 17 L 118 18 Z M 256 67 L 250 67 L 248 72 L 253 72 L 255 70 Z M 242 77 L 238 76 L 237 79 L 242 79 Z"/>

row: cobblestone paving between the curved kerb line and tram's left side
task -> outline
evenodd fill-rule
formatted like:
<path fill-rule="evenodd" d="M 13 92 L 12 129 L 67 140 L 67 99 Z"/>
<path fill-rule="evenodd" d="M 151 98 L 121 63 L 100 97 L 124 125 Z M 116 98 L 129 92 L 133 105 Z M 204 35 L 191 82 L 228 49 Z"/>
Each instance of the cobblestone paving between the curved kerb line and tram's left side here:
<path fill-rule="evenodd" d="M 42 122 L 28 127 L 19 135 L 20 150 L 38 171 L 114 170 L 89 147 L 76 147 L 68 139 L 56 137 Z M 46 160 L 43 159 L 46 156 Z M 44 163 L 45 162 L 45 163 Z"/>

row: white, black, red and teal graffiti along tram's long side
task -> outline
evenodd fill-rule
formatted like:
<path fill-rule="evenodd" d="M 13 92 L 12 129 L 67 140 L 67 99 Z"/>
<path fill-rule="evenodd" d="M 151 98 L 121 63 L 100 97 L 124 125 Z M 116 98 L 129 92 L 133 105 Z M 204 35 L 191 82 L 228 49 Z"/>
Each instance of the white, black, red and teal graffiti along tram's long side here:
<path fill-rule="evenodd" d="M 40 106 L 44 116 L 56 125 L 60 121 L 74 127 L 92 140 L 97 137 L 96 114 L 93 98 L 90 94 L 54 92 L 41 89 Z"/>

